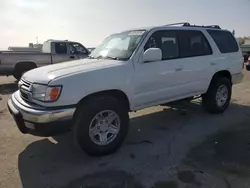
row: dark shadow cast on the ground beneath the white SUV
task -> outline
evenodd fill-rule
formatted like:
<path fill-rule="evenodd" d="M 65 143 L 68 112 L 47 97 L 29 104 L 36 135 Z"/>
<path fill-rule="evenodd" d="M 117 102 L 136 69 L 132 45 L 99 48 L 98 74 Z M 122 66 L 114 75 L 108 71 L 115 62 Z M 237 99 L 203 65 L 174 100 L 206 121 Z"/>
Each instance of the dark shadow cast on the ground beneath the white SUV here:
<path fill-rule="evenodd" d="M 81 177 L 105 170 L 124 170 L 138 175 L 159 173 L 160 168 L 169 168 L 178 155 L 187 152 L 189 148 L 185 144 L 188 142 L 196 142 L 209 132 L 218 131 L 221 124 L 249 120 L 250 107 L 233 103 L 224 114 L 210 115 L 197 102 L 154 112 L 146 109 L 143 111 L 146 115 L 140 113 L 131 114 L 129 134 L 123 146 L 112 155 L 98 158 L 85 155 L 74 146 L 72 133 L 29 144 L 18 156 L 23 188 L 67 187 L 68 183 L 79 182 Z M 232 115 L 237 118 L 229 120 Z M 178 137 L 178 132 L 186 136 Z M 176 147 L 171 151 L 173 138 Z M 112 177 L 109 178 L 112 181 Z"/>

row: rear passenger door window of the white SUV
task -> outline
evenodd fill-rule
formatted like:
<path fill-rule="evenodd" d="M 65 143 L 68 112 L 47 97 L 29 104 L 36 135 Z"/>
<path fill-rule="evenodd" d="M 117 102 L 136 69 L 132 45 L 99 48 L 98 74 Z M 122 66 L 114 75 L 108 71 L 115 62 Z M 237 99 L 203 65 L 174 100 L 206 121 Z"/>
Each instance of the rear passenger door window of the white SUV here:
<path fill-rule="evenodd" d="M 212 54 L 211 47 L 200 31 L 179 31 L 181 57 Z"/>

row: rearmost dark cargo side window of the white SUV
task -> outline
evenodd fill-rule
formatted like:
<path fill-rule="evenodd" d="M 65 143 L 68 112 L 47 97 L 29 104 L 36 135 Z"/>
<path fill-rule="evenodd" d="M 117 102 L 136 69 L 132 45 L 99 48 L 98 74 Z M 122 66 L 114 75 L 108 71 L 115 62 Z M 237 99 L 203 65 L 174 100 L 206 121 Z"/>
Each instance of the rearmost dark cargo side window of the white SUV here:
<path fill-rule="evenodd" d="M 230 53 L 239 51 L 238 44 L 229 31 L 207 30 L 221 53 Z"/>

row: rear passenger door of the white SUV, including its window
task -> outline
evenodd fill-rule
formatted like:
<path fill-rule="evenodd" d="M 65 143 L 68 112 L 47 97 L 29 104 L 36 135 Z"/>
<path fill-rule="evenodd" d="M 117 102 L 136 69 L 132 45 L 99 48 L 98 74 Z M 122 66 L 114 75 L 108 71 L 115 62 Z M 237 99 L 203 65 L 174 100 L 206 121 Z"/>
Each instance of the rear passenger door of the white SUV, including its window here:
<path fill-rule="evenodd" d="M 211 79 L 211 46 L 200 30 L 178 32 L 181 58 L 180 92 L 183 96 L 204 93 Z"/>

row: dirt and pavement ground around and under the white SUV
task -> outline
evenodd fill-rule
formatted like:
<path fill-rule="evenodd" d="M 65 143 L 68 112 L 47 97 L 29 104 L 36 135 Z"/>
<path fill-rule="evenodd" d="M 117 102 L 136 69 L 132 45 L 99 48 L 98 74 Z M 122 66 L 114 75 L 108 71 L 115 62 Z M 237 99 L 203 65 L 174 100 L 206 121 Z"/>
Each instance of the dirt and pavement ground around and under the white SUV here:
<path fill-rule="evenodd" d="M 6 109 L 16 84 L 0 77 L 0 188 L 249 187 L 249 81 L 246 73 L 222 115 L 204 112 L 200 100 L 131 113 L 121 149 L 91 158 L 71 133 L 21 134 Z"/>

